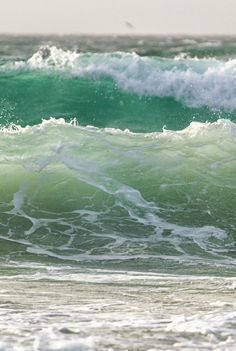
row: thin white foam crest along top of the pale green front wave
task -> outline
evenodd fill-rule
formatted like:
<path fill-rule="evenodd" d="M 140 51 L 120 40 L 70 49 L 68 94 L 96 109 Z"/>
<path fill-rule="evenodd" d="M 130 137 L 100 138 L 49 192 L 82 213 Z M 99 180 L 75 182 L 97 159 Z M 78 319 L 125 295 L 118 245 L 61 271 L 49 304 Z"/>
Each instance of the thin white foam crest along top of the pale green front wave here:
<path fill-rule="evenodd" d="M 11 124 L 8 127 L 4 126 L 0 128 L 0 135 L 5 136 L 14 136 L 17 134 L 38 134 L 49 132 L 51 128 L 60 128 L 61 133 L 63 134 L 64 128 L 72 128 L 74 132 L 85 133 L 88 137 L 98 137 L 104 136 L 108 137 L 109 135 L 117 138 L 121 143 L 125 142 L 125 139 L 128 138 L 129 142 L 153 142 L 157 140 L 159 142 L 172 141 L 172 142 L 185 142 L 188 143 L 193 140 L 198 140 L 199 142 L 205 142 L 207 144 L 222 143 L 222 140 L 226 142 L 227 140 L 232 142 L 236 137 L 236 124 L 227 119 L 218 119 L 216 122 L 191 122 L 186 128 L 173 131 L 163 128 L 162 132 L 150 132 L 150 133 L 135 133 L 128 129 L 117 129 L 117 128 L 97 128 L 93 126 L 80 126 L 75 118 L 67 122 L 64 118 L 49 118 L 43 119 L 41 123 L 34 126 L 25 126 L 21 127 L 20 125 Z M 59 129 L 58 129 L 59 131 Z M 46 135 L 46 134 L 45 134 Z M 122 139 L 121 139 L 122 138 Z M 124 138 L 124 139 L 123 139 Z M 122 141 L 123 140 L 123 141 Z M 62 145 L 58 144 L 58 150 Z M 5 155 L 6 156 L 6 155 Z"/>

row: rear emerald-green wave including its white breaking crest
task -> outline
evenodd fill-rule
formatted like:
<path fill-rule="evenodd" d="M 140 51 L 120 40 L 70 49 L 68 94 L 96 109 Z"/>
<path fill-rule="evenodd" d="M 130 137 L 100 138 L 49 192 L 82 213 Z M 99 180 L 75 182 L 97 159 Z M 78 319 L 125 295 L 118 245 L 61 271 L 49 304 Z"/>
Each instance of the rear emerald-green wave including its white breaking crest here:
<path fill-rule="evenodd" d="M 0 70 L 2 125 L 76 117 L 81 125 L 172 130 L 235 119 L 235 60 L 163 59 L 41 47 Z"/>

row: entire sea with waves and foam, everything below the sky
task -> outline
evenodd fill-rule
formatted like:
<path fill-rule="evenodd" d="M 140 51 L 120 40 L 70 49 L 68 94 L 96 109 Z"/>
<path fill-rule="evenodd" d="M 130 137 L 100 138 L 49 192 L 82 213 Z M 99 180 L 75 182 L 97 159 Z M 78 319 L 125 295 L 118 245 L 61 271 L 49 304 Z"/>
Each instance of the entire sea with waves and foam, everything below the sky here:
<path fill-rule="evenodd" d="M 234 350 L 236 39 L 0 36 L 0 350 Z"/>

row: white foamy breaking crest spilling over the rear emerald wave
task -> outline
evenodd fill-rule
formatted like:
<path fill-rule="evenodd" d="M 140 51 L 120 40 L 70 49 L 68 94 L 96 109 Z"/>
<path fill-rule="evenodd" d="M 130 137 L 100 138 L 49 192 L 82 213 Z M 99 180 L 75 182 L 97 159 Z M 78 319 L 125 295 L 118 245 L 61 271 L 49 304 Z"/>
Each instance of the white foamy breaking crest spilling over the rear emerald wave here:
<path fill-rule="evenodd" d="M 236 109 L 235 59 L 158 59 L 135 53 L 77 53 L 45 46 L 27 62 L 15 62 L 13 66 L 63 72 L 70 77 L 107 77 L 122 90 L 140 96 L 173 97 L 189 107 Z"/>

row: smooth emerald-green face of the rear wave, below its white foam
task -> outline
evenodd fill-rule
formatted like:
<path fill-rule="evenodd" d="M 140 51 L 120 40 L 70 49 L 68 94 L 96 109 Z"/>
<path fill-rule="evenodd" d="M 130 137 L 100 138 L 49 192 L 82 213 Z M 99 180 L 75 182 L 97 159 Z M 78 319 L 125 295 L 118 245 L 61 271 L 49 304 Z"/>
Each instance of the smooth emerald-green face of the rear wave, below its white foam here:
<path fill-rule="evenodd" d="M 172 97 L 139 96 L 109 78 L 88 79 L 59 73 L 13 71 L 0 75 L 0 123 L 35 125 L 42 118 L 76 118 L 81 125 L 136 132 L 187 127 L 191 121 L 235 119 L 235 114 L 191 108 Z"/>

